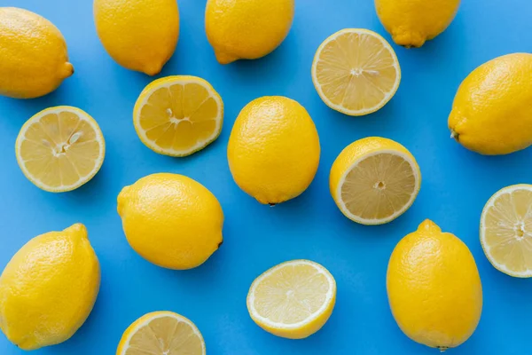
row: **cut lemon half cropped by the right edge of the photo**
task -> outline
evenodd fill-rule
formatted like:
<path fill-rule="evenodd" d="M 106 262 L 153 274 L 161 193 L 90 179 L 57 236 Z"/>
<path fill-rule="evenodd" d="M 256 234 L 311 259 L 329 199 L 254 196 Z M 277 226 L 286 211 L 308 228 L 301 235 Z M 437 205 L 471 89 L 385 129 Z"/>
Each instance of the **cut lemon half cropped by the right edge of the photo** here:
<path fill-rule="evenodd" d="M 532 185 L 499 190 L 482 210 L 481 245 L 500 272 L 532 277 Z"/>

